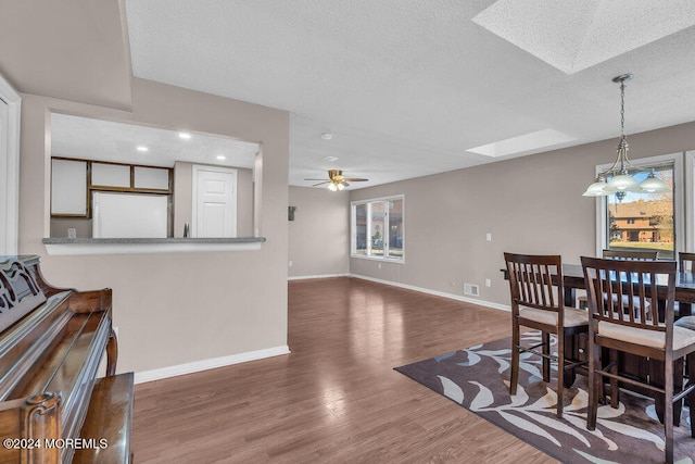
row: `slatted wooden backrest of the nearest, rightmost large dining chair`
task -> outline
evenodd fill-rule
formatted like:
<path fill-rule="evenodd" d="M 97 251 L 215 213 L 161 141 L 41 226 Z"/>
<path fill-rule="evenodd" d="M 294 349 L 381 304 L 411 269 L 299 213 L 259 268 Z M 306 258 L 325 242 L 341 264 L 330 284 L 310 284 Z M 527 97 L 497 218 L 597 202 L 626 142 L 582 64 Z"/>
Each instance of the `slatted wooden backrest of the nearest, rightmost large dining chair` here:
<path fill-rule="evenodd" d="M 581 260 L 595 319 L 658 331 L 666 331 L 669 319 L 673 324 L 674 261 Z M 664 312 L 658 310 L 659 285 L 667 288 Z"/>

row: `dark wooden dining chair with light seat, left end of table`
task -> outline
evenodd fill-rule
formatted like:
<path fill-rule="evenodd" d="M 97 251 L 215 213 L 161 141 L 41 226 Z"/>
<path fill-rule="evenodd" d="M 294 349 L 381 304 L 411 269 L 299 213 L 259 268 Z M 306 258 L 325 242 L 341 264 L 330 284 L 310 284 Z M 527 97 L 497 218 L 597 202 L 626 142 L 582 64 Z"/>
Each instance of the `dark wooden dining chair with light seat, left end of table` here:
<path fill-rule="evenodd" d="M 559 255 L 531 255 L 504 253 L 511 293 L 511 378 L 509 393 L 516 394 L 519 381 L 521 352 L 531 352 L 543 359 L 543 380 L 551 381 L 551 362 L 557 363 L 557 416 L 563 416 L 564 387 L 570 387 L 574 368 L 585 361 L 568 360 L 565 337 L 589 330 L 587 312 L 565 308 L 563 263 Z M 541 331 L 541 342 L 522 347 L 520 327 Z M 551 349 L 551 335 L 557 338 L 557 353 Z M 539 350 L 539 348 L 541 350 Z M 569 351 L 569 349 L 568 349 Z M 569 371 L 569 376 L 566 376 Z"/>

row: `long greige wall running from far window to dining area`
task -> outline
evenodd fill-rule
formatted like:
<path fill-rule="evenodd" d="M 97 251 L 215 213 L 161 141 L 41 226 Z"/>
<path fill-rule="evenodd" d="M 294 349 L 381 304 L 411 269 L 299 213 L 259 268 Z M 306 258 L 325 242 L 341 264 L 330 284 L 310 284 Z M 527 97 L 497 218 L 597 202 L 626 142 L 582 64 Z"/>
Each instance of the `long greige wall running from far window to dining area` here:
<path fill-rule="evenodd" d="M 695 148 L 695 123 L 630 135 L 632 160 Z M 369 278 L 509 305 L 503 253 L 561 254 L 568 263 L 596 254 L 596 200 L 582 197 L 617 139 L 521 156 L 351 192 L 351 201 L 405 195 L 405 262 L 353 258 Z M 486 234 L 492 241 L 486 241 Z M 490 279 L 491 286 L 485 286 Z M 468 297 L 472 298 L 472 297 Z"/>

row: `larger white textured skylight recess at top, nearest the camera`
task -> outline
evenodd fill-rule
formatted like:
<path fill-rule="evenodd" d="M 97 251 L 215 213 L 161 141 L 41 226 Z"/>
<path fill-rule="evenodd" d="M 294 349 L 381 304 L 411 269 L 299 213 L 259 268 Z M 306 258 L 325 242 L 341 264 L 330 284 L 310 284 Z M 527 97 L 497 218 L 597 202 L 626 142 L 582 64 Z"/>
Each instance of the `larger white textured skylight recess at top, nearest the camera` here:
<path fill-rule="evenodd" d="M 476 24 L 567 74 L 695 24 L 692 0 L 498 0 Z"/>

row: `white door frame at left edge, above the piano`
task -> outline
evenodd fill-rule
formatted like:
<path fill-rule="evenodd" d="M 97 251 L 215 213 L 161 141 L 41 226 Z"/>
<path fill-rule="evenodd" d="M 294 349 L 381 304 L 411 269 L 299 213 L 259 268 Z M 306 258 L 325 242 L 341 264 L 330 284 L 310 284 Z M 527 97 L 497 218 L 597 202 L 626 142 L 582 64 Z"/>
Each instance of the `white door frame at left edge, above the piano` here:
<path fill-rule="evenodd" d="M 0 75 L 0 100 L 7 105 L 7 133 L 0 130 L 0 255 L 17 254 L 20 236 L 20 124 L 22 98 Z M 4 111 L 4 110 L 0 110 Z"/>

